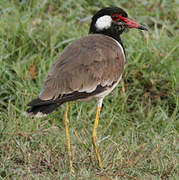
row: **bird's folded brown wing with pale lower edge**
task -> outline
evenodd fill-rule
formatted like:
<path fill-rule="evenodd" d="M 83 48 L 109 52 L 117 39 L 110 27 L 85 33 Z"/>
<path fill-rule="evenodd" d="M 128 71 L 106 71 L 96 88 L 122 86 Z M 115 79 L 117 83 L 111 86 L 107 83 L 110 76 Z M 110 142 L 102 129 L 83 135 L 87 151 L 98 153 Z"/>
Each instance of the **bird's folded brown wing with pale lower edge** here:
<path fill-rule="evenodd" d="M 112 38 L 93 34 L 67 46 L 53 64 L 39 98 L 56 99 L 75 92 L 90 93 L 110 86 L 124 69 L 123 50 Z"/>

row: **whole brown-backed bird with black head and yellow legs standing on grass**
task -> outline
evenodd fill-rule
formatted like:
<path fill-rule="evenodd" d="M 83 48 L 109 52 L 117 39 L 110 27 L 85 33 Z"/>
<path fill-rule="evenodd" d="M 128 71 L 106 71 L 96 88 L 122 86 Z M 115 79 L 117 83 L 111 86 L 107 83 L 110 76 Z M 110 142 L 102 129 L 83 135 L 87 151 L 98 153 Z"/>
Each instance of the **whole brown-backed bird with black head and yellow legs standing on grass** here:
<path fill-rule="evenodd" d="M 68 111 L 71 101 L 97 102 L 92 144 L 98 166 L 103 168 L 97 147 L 97 127 L 103 99 L 118 85 L 125 65 L 125 48 L 120 35 L 136 28 L 148 29 L 131 20 L 120 7 L 96 12 L 89 34 L 67 45 L 45 79 L 40 94 L 27 104 L 26 115 L 43 117 L 66 103 L 64 115 L 69 168 L 74 172 L 69 137 Z"/>

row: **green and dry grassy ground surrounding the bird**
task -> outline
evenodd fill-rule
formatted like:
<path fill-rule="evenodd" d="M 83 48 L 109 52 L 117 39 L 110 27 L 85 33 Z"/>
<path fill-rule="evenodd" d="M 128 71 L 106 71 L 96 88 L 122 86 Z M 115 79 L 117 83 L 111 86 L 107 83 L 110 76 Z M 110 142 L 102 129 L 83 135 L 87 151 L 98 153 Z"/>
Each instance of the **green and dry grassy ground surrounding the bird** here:
<path fill-rule="evenodd" d="M 103 170 L 91 143 L 95 102 L 71 103 L 76 171 L 71 176 L 65 106 L 40 119 L 22 113 L 63 48 L 86 35 L 91 15 L 109 5 L 125 8 L 150 31 L 122 36 L 123 81 L 105 99 L 98 128 Z M 0 179 L 179 179 L 177 5 L 177 0 L 1 0 Z"/>

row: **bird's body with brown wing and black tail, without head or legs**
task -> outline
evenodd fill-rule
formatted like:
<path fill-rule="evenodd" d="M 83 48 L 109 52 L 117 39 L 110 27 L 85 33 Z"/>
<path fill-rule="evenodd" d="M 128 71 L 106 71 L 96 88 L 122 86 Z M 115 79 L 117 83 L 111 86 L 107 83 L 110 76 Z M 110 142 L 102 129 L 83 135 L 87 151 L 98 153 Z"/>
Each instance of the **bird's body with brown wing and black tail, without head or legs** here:
<path fill-rule="evenodd" d="M 52 65 L 26 113 L 42 116 L 68 101 L 106 96 L 119 82 L 124 62 L 122 46 L 111 37 L 92 34 L 74 41 Z"/>

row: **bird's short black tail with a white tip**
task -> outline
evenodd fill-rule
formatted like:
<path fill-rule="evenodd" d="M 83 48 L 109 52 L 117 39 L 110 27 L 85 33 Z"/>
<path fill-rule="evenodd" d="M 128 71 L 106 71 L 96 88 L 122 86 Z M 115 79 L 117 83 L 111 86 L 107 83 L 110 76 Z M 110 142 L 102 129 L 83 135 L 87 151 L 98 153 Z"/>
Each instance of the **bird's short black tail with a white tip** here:
<path fill-rule="evenodd" d="M 29 109 L 25 112 L 26 115 L 36 115 L 38 117 L 45 116 L 55 109 L 57 109 L 62 103 L 55 103 L 53 101 L 43 101 L 39 98 L 32 100 L 28 106 Z"/>

